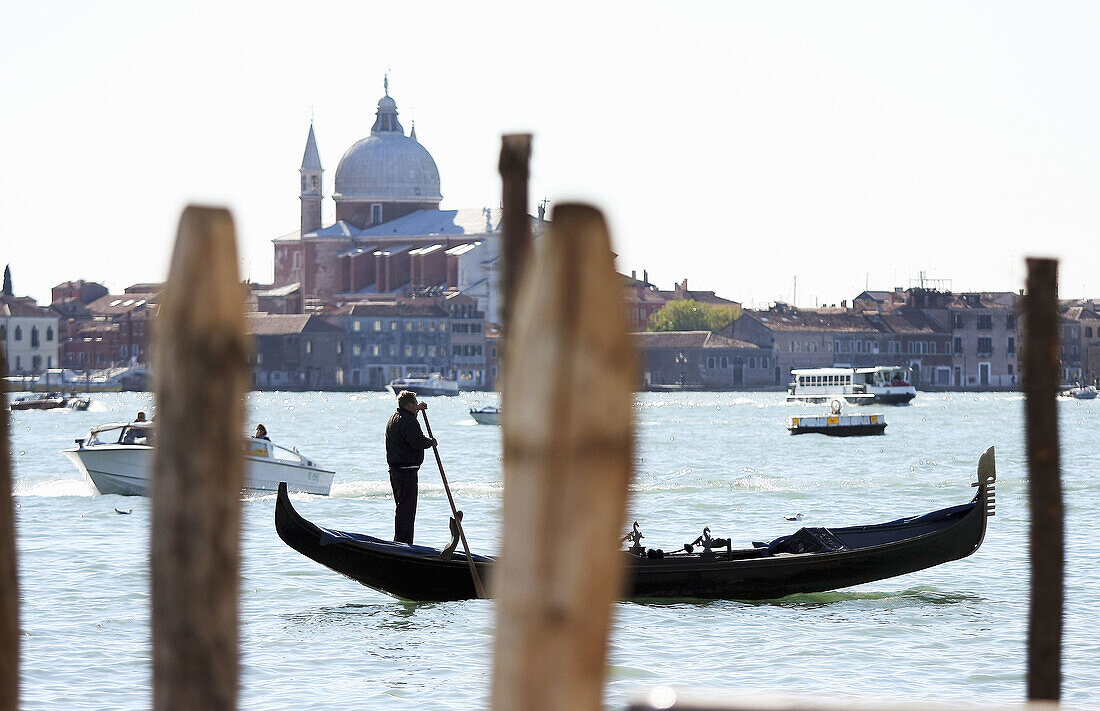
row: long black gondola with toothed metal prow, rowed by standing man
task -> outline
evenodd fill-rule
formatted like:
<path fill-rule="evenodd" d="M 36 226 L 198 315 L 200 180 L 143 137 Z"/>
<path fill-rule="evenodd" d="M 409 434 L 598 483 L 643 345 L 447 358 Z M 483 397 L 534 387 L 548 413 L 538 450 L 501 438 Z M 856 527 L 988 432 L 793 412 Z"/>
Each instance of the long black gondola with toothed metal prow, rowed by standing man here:
<path fill-rule="evenodd" d="M 884 580 L 965 558 L 978 550 L 993 515 L 993 448 L 978 462 L 977 494 L 966 504 L 869 526 L 800 528 L 752 548 L 710 538 L 664 553 L 637 545 L 628 557 L 629 600 L 773 600 Z M 453 542 L 440 551 L 322 528 L 295 511 L 280 484 L 275 528 L 288 546 L 356 582 L 410 601 L 476 598 L 469 564 Z M 629 535 L 626 537 L 629 538 Z M 473 556 L 483 580 L 494 559 Z"/>

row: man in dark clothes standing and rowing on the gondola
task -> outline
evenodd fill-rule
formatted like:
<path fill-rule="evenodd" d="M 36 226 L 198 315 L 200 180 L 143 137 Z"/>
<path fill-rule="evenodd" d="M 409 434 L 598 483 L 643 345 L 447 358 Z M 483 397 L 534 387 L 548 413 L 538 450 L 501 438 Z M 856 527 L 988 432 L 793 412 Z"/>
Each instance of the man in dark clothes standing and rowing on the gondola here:
<path fill-rule="evenodd" d="M 416 523 L 417 472 L 424 463 L 424 450 L 436 445 L 426 437 L 417 422 L 417 414 L 428 409 L 418 403 L 416 393 L 403 390 L 397 395 L 397 412 L 386 423 L 386 463 L 389 464 L 389 485 L 394 490 L 394 540 L 413 543 Z"/>

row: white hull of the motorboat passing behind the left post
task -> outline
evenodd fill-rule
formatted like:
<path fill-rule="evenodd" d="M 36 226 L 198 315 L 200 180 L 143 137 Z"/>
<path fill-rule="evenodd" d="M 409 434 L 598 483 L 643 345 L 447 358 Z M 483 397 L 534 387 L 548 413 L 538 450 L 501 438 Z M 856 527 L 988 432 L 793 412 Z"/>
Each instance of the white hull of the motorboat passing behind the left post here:
<path fill-rule="evenodd" d="M 101 494 L 147 496 L 153 448 L 140 445 L 97 445 L 63 450 Z M 329 495 L 332 472 L 298 462 L 245 456 L 244 493 L 278 491 L 280 481 L 290 491 Z"/>

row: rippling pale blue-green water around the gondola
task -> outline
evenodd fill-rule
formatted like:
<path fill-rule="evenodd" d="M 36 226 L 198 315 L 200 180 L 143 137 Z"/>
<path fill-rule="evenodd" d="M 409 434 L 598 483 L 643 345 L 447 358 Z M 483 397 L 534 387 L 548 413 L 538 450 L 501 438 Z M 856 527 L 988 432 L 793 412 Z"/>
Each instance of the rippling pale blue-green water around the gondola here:
<path fill-rule="evenodd" d="M 95 424 L 150 409 L 144 394 L 95 395 L 89 412 L 12 413 L 22 592 L 23 708 L 145 709 L 151 702 L 150 502 L 96 496 L 58 450 Z M 432 427 L 471 545 L 501 534 L 501 431 L 470 419 L 495 394 L 430 398 Z M 997 516 L 972 557 L 902 578 L 778 602 L 622 603 L 607 705 L 657 685 L 1011 702 L 1024 697 L 1027 510 L 1023 398 L 921 393 L 887 415 L 884 437 L 791 437 L 784 418 L 816 406 L 778 393 L 640 395 L 629 513 L 652 547 L 704 525 L 738 544 L 800 526 L 877 523 L 967 501 L 978 456 L 997 446 Z M 298 496 L 322 525 L 388 536 L 393 500 L 381 393 L 262 393 L 263 422 L 337 472 L 331 497 Z M 1100 572 L 1089 525 L 1100 510 L 1100 401 L 1059 403 L 1067 504 L 1064 700 L 1100 701 L 1089 620 Z M 1098 412 L 1092 412 L 1093 409 Z M 446 496 L 421 470 L 417 540 L 449 538 Z M 491 601 L 413 604 L 367 590 L 290 550 L 273 497 L 243 506 L 242 709 L 477 709 L 492 674 Z M 131 515 L 119 515 L 116 507 Z M 800 522 L 784 516 L 802 513 Z M 625 529 L 624 529 L 625 533 Z M 532 538 L 552 530 L 530 530 Z M 552 670 L 548 670 L 552 674 Z"/>

